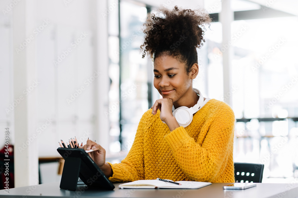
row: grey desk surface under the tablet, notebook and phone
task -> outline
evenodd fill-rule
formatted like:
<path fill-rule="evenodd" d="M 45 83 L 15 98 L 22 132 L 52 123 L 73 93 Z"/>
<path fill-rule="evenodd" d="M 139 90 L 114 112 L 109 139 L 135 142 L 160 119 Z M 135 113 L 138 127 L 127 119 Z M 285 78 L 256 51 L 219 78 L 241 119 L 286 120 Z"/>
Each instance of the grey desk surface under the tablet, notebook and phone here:
<path fill-rule="evenodd" d="M 231 183 L 212 183 L 199 189 L 119 189 L 114 183 L 113 191 L 88 189 L 86 185 L 78 185 L 76 191 L 60 189 L 60 182 L 40 184 L 9 189 L 9 194 L 0 190 L 0 197 L 36 198 L 38 197 L 224 197 L 224 198 L 290 198 L 298 197 L 298 184 L 257 183 L 256 187 L 245 190 L 223 190 L 223 186 Z"/>

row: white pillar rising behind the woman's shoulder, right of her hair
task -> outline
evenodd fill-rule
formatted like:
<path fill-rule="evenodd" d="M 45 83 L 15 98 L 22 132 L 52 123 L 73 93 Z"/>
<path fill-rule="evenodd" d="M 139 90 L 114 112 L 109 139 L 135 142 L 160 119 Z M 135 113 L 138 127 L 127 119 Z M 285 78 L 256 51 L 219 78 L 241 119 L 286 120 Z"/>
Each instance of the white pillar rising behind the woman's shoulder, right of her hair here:
<path fill-rule="evenodd" d="M 223 75 L 224 75 L 224 95 L 227 95 L 230 91 L 232 84 L 232 57 L 233 49 L 229 44 L 231 40 L 231 23 L 234 21 L 234 12 L 231 10 L 231 0 L 224 0 L 221 3 L 221 12 L 219 13 L 219 21 L 222 24 L 223 41 L 221 49 L 226 49 L 225 46 L 229 46 L 226 51 L 223 52 Z M 225 102 L 232 106 L 232 96 L 225 97 Z"/>

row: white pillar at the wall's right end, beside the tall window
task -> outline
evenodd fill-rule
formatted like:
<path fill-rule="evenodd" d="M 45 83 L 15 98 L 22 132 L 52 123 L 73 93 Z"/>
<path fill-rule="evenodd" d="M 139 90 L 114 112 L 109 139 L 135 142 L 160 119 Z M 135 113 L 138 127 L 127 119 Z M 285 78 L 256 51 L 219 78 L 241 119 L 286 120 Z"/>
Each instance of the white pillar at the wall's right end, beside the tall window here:
<path fill-rule="evenodd" d="M 116 1 L 115 1 L 116 2 Z M 94 69 L 101 72 L 95 87 L 94 111 L 96 116 L 95 134 L 96 142 L 109 152 L 109 117 L 105 115 L 108 112 L 108 91 L 110 79 L 108 76 L 108 16 L 105 15 L 107 0 L 92 1 L 94 5 L 91 15 L 94 23 Z M 118 6 L 118 5 L 117 5 Z M 114 10 L 115 11 L 115 10 Z"/>

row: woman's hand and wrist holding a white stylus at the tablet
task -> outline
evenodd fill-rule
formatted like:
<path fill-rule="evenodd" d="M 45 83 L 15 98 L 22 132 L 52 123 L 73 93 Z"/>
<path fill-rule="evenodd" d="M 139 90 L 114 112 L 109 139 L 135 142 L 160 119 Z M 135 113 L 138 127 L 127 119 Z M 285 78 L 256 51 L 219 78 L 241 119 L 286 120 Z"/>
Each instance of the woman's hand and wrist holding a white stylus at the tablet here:
<path fill-rule="evenodd" d="M 92 158 L 95 164 L 97 164 L 97 166 L 103 171 L 105 176 L 111 177 L 113 175 L 111 166 L 105 162 L 105 149 L 102 146 L 88 139 L 87 144 L 85 144 L 84 146 L 80 146 L 79 148 L 82 148 L 84 150 L 94 150 L 88 153 L 88 155 Z"/>

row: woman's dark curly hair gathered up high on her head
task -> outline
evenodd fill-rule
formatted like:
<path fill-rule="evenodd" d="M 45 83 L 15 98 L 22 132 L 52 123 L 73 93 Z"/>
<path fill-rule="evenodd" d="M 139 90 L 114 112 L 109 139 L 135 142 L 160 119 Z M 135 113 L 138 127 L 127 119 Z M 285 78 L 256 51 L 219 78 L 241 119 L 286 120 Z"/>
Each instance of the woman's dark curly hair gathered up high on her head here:
<path fill-rule="evenodd" d="M 158 16 L 148 13 L 143 24 L 145 39 L 141 45 L 142 58 L 146 53 L 153 61 L 162 54 L 173 56 L 185 63 L 188 74 L 192 65 L 198 63 L 196 48 L 201 48 L 205 42 L 204 24 L 210 27 L 212 19 L 204 9 L 179 9 L 175 6 L 173 10 L 162 7 L 157 11 Z"/>

